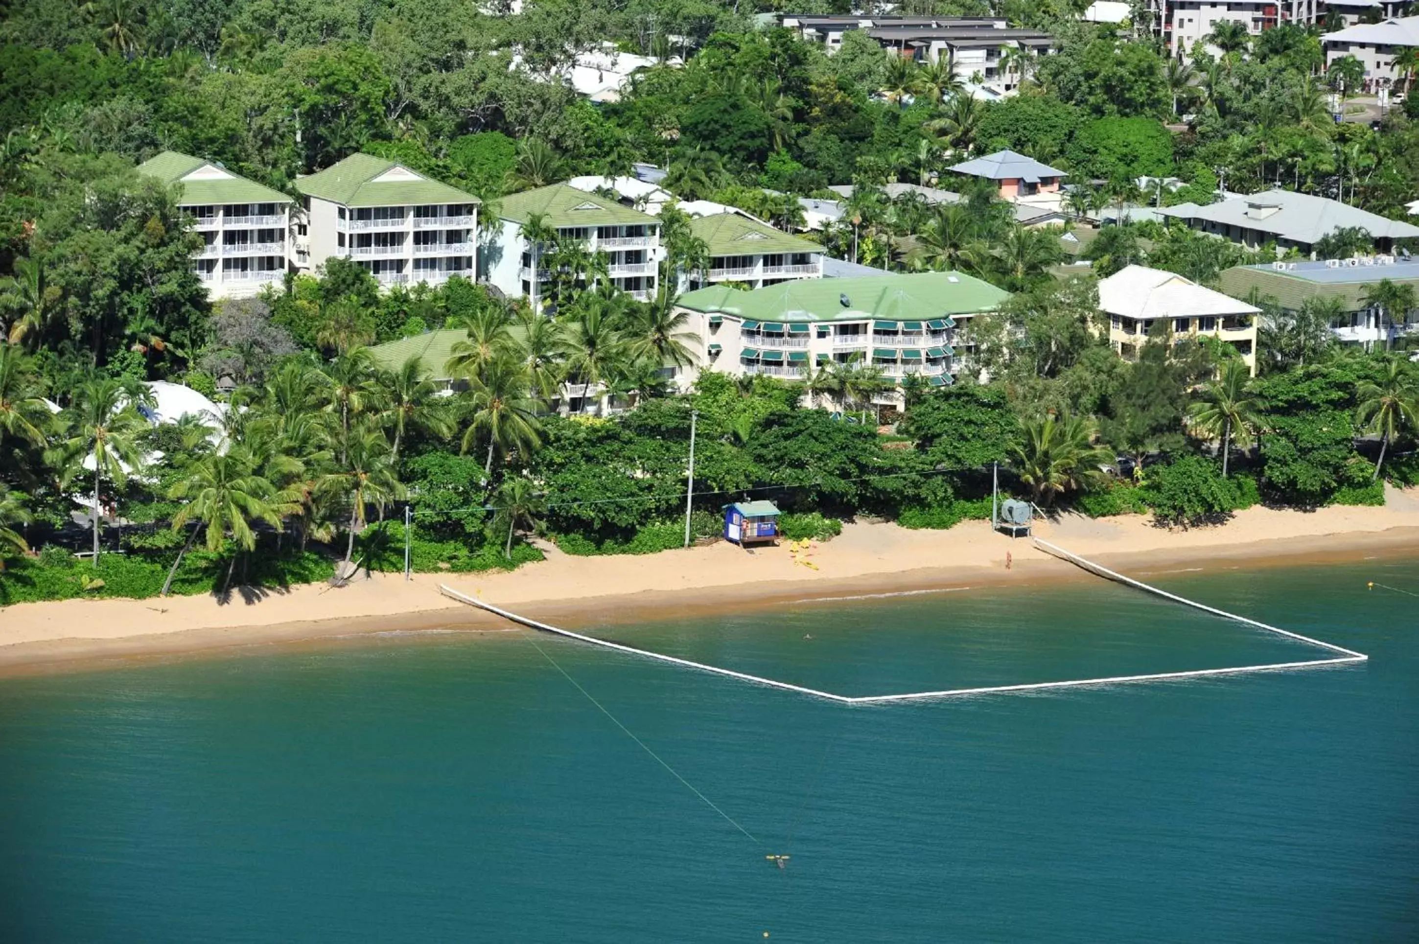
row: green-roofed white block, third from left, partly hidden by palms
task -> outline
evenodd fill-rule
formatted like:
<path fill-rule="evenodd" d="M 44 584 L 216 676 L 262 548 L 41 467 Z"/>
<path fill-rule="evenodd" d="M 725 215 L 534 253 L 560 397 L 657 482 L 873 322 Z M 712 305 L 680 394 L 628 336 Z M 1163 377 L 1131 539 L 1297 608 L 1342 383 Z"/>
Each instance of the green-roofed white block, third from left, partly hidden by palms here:
<path fill-rule="evenodd" d="M 501 226 L 482 247 L 481 265 L 487 280 L 505 294 L 531 297 L 535 280 L 538 295 L 543 297 L 543 287 L 551 280 L 555 247 L 545 244 L 534 253 L 532 243 L 522 234 L 534 216 L 556 233 L 558 243 L 582 243 L 592 253 L 604 253 L 606 277 L 617 288 L 640 300 L 654 295 L 660 220 L 565 183 L 502 197 Z"/>

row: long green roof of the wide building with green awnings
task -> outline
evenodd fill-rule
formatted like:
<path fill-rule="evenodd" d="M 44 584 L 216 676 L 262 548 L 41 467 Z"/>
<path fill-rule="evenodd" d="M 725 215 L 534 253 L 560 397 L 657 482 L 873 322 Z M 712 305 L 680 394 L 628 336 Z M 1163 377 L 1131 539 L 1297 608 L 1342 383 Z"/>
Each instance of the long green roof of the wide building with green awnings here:
<path fill-rule="evenodd" d="M 881 278 L 803 278 L 752 291 L 711 285 L 680 307 L 755 321 L 922 321 L 993 311 L 1010 297 L 962 273 L 894 273 Z"/>

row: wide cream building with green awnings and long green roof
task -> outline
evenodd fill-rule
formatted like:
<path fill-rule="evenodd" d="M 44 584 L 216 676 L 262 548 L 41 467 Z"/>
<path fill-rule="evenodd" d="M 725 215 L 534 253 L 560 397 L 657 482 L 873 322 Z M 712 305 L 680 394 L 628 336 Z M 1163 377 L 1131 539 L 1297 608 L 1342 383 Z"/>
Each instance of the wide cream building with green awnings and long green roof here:
<path fill-rule="evenodd" d="M 1010 294 L 961 273 L 790 281 L 752 291 L 711 285 L 680 309 L 695 366 L 677 369 L 684 389 L 700 371 L 799 379 L 806 366 L 868 363 L 898 385 L 911 375 L 948 386 L 964 369 L 959 331 Z M 901 390 L 880 397 L 901 403 Z"/>

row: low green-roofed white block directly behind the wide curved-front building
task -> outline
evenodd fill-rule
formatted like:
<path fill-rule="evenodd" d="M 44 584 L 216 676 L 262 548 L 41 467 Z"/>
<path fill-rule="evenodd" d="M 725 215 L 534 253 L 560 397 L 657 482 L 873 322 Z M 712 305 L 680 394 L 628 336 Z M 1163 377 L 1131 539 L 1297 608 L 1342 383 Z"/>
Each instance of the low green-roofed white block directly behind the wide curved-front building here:
<path fill-rule="evenodd" d="M 683 273 L 681 285 L 702 282 L 745 282 L 751 288 L 776 285 L 795 278 L 823 277 L 823 247 L 789 236 L 744 213 L 728 212 L 695 217 L 690 231 L 710 248 L 704 273 Z"/>

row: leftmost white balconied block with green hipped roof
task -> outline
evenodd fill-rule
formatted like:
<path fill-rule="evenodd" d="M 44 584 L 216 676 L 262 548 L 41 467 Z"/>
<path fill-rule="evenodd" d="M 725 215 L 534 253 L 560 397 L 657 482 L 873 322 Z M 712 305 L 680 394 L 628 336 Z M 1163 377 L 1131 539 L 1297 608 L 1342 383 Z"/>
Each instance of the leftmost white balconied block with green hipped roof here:
<path fill-rule="evenodd" d="M 177 204 L 203 238 L 193 270 L 211 298 L 254 295 L 285 275 L 291 197 L 176 150 L 143 162 L 138 172 L 180 189 Z"/>

